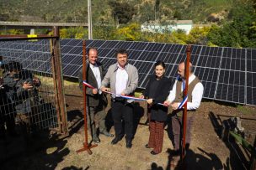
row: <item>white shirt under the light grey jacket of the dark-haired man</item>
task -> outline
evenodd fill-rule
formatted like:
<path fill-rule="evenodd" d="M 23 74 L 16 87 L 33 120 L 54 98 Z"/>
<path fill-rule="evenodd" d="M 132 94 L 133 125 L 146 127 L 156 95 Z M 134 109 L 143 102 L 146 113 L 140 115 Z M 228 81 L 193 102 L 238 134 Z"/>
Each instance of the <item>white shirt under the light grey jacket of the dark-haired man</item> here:
<path fill-rule="evenodd" d="M 115 93 L 117 95 L 120 95 L 126 89 L 128 82 L 128 73 L 118 64 L 118 69 L 116 70 L 115 76 Z"/>

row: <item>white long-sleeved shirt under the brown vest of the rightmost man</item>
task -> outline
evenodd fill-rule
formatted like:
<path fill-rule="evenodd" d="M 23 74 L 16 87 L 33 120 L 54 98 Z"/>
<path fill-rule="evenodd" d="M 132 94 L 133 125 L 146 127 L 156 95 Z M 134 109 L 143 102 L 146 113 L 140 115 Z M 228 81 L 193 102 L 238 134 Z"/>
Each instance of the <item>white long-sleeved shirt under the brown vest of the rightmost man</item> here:
<path fill-rule="evenodd" d="M 195 80 L 195 75 L 192 74 L 189 76 L 189 84 Z M 173 89 L 170 90 L 170 93 L 168 95 L 168 101 L 170 101 L 171 103 L 173 102 L 173 100 L 175 100 L 176 97 L 176 86 L 177 86 L 177 80 L 175 80 L 175 83 L 173 85 Z M 183 91 L 183 87 L 180 88 L 181 91 Z M 197 83 L 195 85 L 194 90 L 192 91 L 192 102 L 188 102 L 187 103 L 187 109 L 188 110 L 194 110 L 197 109 L 200 106 L 200 102 L 202 100 L 203 97 L 203 93 L 204 93 L 204 86 L 202 85 L 202 83 Z M 179 106 L 180 103 L 178 103 Z"/>

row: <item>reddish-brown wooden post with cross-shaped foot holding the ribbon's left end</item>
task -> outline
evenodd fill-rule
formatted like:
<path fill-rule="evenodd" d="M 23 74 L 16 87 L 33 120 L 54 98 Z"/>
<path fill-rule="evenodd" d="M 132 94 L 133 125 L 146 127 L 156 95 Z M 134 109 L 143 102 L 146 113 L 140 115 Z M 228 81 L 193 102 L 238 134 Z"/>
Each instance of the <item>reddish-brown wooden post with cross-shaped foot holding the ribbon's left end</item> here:
<path fill-rule="evenodd" d="M 83 80 L 86 80 L 86 70 L 87 70 L 87 64 L 86 64 L 86 45 L 85 40 L 83 40 Z M 87 151 L 89 155 L 91 155 L 93 152 L 90 150 L 92 147 L 97 147 L 97 144 L 91 145 L 88 144 L 88 128 L 87 128 L 87 112 L 86 112 L 86 86 L 83 85 L 83 120 L 84 120 L 84 139 L 85 142 L 83 143 L 83 148 L 77 150 L 77 152 L 83 152 Z"/>

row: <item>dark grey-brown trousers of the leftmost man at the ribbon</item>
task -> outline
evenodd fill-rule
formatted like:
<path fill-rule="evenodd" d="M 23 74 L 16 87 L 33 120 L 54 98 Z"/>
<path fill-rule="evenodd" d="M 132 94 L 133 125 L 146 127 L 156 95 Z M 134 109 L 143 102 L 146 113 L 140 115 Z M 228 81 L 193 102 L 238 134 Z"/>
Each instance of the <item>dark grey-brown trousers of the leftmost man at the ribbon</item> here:
<path fill-rule="evenodd" d="M 88 128 L 91 129 L 92 137 L 97 137 L 97 126 L 99 126 L 99 131 L 104 132 L 106 131 L 105 126 L 105 111 L 103 106 L 95 106 L 87 107 L 87 113 L 88 113 Z"/>

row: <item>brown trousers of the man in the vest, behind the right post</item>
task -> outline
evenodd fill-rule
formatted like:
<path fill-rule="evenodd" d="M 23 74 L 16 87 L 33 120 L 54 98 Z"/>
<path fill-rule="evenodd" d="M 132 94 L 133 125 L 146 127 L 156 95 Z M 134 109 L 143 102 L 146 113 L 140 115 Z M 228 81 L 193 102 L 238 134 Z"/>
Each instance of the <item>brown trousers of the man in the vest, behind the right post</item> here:
<path fill-rule="evenodd" d="M 191 127 L 193 122 L 194 116 L 187 116 L 186 144 L 189 144 L 191 141 Z M 179 147 L 181 145 L 180 134 L 182 134 L 182 117 L 176 115 L 172 116 L 171 123 L 173 129 L 173 147 L 174 150 L 179 150 Z"/>

